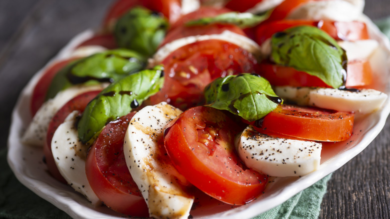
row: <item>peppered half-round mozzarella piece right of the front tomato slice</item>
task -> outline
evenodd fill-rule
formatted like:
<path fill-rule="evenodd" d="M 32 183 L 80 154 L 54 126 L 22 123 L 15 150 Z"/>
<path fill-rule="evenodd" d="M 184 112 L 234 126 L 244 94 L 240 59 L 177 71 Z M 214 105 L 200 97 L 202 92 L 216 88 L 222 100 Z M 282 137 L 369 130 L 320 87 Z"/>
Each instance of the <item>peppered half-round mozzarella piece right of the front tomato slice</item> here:
<path fill-rule="evenodd" d="M 271 176 L 301 176 L 319 167 L 321 147 L 313 141 L 274 138 L 249 125 L 240 136 L 237 152 L 254 170 Z"/>

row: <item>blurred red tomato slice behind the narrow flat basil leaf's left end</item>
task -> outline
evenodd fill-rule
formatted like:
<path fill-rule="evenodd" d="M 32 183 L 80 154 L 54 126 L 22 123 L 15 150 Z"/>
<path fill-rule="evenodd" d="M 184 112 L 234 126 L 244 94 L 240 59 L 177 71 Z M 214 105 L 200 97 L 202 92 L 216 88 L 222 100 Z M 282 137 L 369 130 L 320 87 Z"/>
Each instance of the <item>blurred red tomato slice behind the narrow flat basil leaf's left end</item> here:
<path fill-rule="evenodd" d="M 203 17 L 213 17 L 221 13 L 227 12 L 231 12 L 231 10 L 227 8 L 200 7 L 195 11 L 182 15 L 176 22 L 172 23 L 170 29 L 174 29 L 178 26 L 183 26 L 186 22 L 190 20 L 196 20 Z"/>

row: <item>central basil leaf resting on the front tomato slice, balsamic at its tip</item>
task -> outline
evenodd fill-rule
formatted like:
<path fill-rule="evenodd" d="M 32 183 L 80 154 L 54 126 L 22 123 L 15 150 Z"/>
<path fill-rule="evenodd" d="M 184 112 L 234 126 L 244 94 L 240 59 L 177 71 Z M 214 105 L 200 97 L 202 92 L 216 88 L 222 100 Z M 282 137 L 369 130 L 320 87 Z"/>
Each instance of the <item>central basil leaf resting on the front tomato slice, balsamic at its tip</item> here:
<path fill-rule="evenodd" d="M 204 96 L 208 106 L 248 121 L 262 118 L 283 101 L 264 77 L 249 73 L 215 79 L 205 87 Z"/>

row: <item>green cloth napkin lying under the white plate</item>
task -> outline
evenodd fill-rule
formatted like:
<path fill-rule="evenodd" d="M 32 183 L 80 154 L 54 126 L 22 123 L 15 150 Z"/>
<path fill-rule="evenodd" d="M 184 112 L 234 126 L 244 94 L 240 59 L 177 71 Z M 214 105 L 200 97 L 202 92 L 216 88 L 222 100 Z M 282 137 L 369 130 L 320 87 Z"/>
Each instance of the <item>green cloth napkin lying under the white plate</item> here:
<path fill-rule="evenodd" d="M 70 218 L 16 179 L 6 161 L 6 149 L 0 150 L 0 169 L 0 218 Z M 286 202 L 254 218 L 318 218 L 329 178 L 330 175 L 324 177 Z"/>

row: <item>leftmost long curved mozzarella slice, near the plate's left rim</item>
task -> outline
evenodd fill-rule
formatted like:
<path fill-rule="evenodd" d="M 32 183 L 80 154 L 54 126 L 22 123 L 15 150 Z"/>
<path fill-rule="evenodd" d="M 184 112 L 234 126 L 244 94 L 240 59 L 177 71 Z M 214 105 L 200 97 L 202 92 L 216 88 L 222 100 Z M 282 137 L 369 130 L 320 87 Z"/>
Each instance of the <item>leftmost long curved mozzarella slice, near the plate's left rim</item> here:
<path fill-rule="evenodd" d="M 21 138 L 21 142 L 32 146 L 43 146 L 44 140 L 46 139 L 48 124 L 58 109 L 76 95 L 89 90 L 102 89 L 106 85 L 106 83 L 88 86 L 75 85 L 58 92 L 54 98 L 44 102 L 35 113 Z"/>

